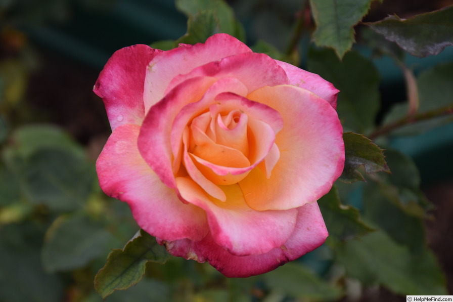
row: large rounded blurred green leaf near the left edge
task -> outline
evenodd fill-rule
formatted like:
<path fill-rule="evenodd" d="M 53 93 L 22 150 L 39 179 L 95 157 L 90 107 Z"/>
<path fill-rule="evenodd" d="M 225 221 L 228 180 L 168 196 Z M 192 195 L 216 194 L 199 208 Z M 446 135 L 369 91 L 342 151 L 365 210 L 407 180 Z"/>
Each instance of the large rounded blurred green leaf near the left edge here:
<path fill-rule="evenodd" d="M 95 181 L 83 148 L 58 127 L 24 126 L 10 137 L 3 157 L 27 200 L 68 211 L 83 204 Z"/>

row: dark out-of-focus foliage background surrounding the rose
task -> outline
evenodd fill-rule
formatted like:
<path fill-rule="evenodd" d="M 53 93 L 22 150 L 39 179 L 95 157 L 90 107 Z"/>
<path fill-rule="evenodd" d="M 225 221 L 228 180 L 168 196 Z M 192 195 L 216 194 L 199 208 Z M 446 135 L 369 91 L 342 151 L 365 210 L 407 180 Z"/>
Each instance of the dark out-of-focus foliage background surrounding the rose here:
<path fill-rule="evenodd" d="M 184 3 L 0 0 L 0 301 L 102 300 L 96 273 L 139 228 L 127 205 L 98 186 L 94 163 L 111 131 L 92 88 L 122 47 L 198 41 L 209 27 Z M 402 301 L 406 294 L 453 294 L 451 116 L 376 133 L 407 108 L 404 68 L 416 77 L 420 112 L 453 103 L 453 49 L 420 59 L 383 47 L 358 24 L 354 50 L 339 61 L 332 50 L 310 44 L 308 2 L 232 0 L 233 10 L 214 3 L 243 25 L 221 29 L 332 81 L 341 90 L 345 130 L 376 135 L 393 174 L 337 183 L 320 200 L 331 237 L 297 262 L 247 279 L 227 279 L 180 258 L 147 262 L 140 283 L 107 300 Z M 364 21 L 451 4 L 373 2 Z M 360 100 L 366 100 L 357 109 L 363 119 L 349 118 L 341 104 L 359 108 Z"/>

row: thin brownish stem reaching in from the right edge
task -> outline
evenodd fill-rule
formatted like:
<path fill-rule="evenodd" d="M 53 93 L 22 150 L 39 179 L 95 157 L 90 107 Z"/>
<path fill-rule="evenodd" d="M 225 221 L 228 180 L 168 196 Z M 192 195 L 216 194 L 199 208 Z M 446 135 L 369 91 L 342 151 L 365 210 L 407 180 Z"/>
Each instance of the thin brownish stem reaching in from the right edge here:
<path fill-rule="evenodd" d="M 438 117 L 442 115 L 448 115 L 448 114 L 453 114 L 453 105 L 448 105 L 444 107 L 440 107 L 431 111 L 426 111 L 423 113 L 417 113 L 414 115 L 407 115 L 403 118 L 400 118 L 394 122 L 388 123 L 386 125 L 383 125 L 382 127 L 377 128 L 374 132 L 372 132 L 370 135 L 367 137 L 371 140 L 376 139 L 377 137 L 380 137 L 382 135 L 385 135 L 389 132 L 392 132 L 396 128 L 399 128 L 401 126 L 407 125 L 407 124 L 412 124 L 418 121 L 430 119 L 433 117 Z"/>

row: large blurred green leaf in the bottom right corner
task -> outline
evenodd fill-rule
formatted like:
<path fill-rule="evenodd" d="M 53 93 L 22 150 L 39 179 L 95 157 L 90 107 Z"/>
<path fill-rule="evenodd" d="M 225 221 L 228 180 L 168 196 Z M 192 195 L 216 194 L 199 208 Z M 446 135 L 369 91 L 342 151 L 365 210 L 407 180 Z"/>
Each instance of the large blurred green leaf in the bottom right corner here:
<path fill-rule="evenodd" d="M 445 278 L 432 252 L 413 255 L 383 232 L 349 240 L 336 249 L 348 275 L 366 285 L 380 284 L 402 295 L 447 294 Z"/>

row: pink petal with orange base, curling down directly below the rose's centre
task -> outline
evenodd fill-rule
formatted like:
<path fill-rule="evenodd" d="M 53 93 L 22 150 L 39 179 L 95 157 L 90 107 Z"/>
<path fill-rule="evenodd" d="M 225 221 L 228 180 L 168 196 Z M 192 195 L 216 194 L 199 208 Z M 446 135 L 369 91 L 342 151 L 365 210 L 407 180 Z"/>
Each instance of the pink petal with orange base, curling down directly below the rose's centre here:
<path fill-rule="evenodd" d="M 209 198 L 189 178 L 176 179 L 181 196 L 206 210 L 214 241 L 235 255 L 261 254 L 283 245 L 296 223 L 296 209 L 255 211 L 247 206 L 238 185 L 222 186 L 227 201 Z"/>

